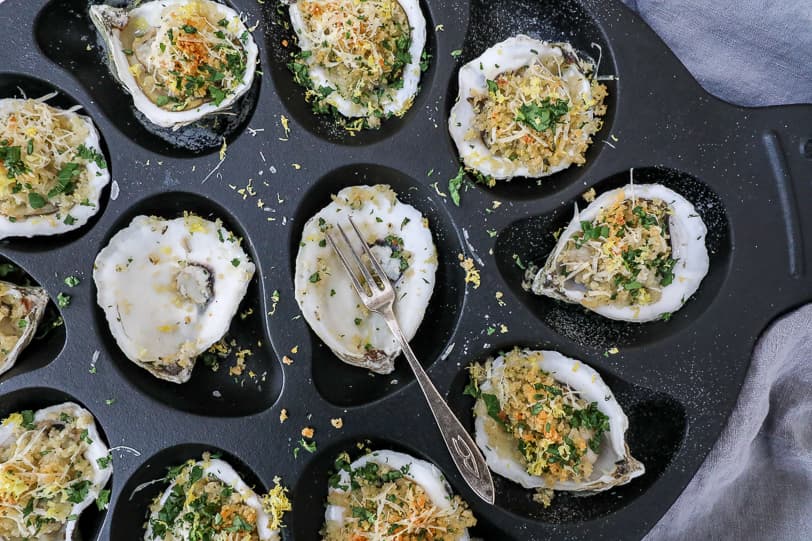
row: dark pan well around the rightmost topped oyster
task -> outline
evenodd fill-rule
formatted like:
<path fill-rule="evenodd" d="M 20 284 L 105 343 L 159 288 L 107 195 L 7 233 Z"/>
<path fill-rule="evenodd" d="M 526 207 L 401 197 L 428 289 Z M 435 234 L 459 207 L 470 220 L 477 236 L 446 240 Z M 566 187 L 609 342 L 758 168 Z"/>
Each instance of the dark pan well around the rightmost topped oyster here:
<path fill-rule="evenodd" d="M 547 214 L 514 222 L 499 233 L 494 255 L 499 272 L 517 297 L 546 326 L 568 340 L 589 350 L 603 353 L 611 347 L 653 344 L 664 337 L 691 326 L 710 306 L 721 290 L 729 272 L 730 227 L 719 196 L 701 180 L 674 169 L 645 167 L 634 169 L 635 183 L 659 183 L 687 199 L 697 210 L 708 229 L 705 244 L 710 257 L 708 274 L 692 298 L 668 321 L 627 323 L 614 321 L 592 313 L 579 305 L 567 304 L 548 297 L 534 295 L 522 288 L 525 269 L 516 265 L 516 257 L 524 264 L 543 265 L 556 244 L 553 232 L 570 223 L 573 206 L 561 205 Z M 623 171 L 594 185 L 598 195 L 628 184 L 629 172 Z M 586 203 L 577 202 L 580 208 Z"/>

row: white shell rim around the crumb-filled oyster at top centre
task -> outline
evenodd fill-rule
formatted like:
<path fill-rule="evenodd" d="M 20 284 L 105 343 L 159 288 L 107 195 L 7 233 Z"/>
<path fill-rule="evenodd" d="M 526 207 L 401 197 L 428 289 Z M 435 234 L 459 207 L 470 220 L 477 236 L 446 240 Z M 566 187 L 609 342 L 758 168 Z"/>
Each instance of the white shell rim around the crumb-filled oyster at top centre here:
<path fill-rule="evenodd" d="M 331 8 L 333 5 L 333 3 L 324 0 L 317 1 L 324 3 L 326 9 Z M 420 2 L 418 0 L 397 0 L 397 3 L 403 8 L 403 12 L 406 14 L 409 26 L 411 27 L 412 41 L 409 45 L 409 55 L 411 59 L 403 68 L 403 86 L 391 96 L 391 99 L 382 103 L 383 112 L 386 115 L 400 115 L 411 107 L 412 101 L 417 95 L 420 86 L 420 61 L 423 48 L 426 45 L 426 19 L 423 16 L 423 11 L 420 9 Z M 290 22 L 293 31 L 299 39 L 299 47 L 302 51 L 312 51 L 318 47 L 319 44 L 313 43 L 310 34 L 305 31 L 304 14 L 299 7 L 299 2 L 290 1 L 289 4 Z M 335 81 L 332 80 L 329 71 L 326 70 L 324 66 L 318 64 L 313 56 L 304 59 L 304 62 L 309 68 L 309 76 L 314 88 L 336 88 L 337 85 Z M 355 103 L 341 96 L 338 92 L 333 92 L 327 96 L 325 101 L 348 118 L 366 117 L 369 115 L 365 103 Z"/>

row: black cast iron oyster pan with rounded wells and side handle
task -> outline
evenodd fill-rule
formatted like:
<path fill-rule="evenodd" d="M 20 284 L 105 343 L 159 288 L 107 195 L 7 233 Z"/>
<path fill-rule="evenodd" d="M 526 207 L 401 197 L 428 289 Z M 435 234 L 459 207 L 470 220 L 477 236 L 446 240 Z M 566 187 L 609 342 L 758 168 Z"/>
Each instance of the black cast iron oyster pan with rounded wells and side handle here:
<path fill-rule="evenodd" d="M 68 292 L 66 276 L 81 279 L 61 309 L 64 327 L 32 343 L 2 376 L 0 413 L 70 400 L 96 417 L 114 448 L 112 498 L 107 511 L 82 515 L 83 538 L 140 538 L 147 503 L 161 487 L 134 489 L 167 466 L 212 451 L 258 489 L 281 476 L 293 502 L 283 537 L 317 539 L 335 456 L 369 440 L 373 449 L 437 464 L 471 505 L 479 519 L 472 534 L 481 538 L 640 539 L 718 437 L 760 333 L 812 299 L 812 218 L 802 213 L 812 200 L 805 182 L 812 172 L 812 108 L 748 109 L 706 94 L 620 2 L 423 2 L 433 59 L 412 109 L 380 130 L 350 137 L 312 115 L 285 67 L 291 49 L 281 45 L 284 11 L 271 2 L 232 5 L 249 25 L 259 23 L 253 35 L 261 76 L 241 104 L 243 114 L 222 132 L 180 141 L 137 118 L 104 65 L 86 1 L 0 6 L 11 29 L 0 36 L 0 98 L 56 90 L 53 105 L 81 104 L 99 128 L 120 189 L 114 199 L 118 190 L 108 188 L 97 215 L 78 231 L 10 239 L 0 248 L 52 299 Z M 585 166 L 541 183 L 473 187 L 458 208 L 440 193 L 458 169 L 445 126 L 457 70 L 518 33 L 569 41 L 591 55 L 592 43 L 600 46 L 599 74 L 617 77 L 607 82 L 605 125 Z M 220 161 L 221 136 L 225 159 L 204 182 Z M 517 259 L 543 262 L 555 243 L 551 233 L 569 221 L 580 194 L 624 185 L 632 167 L 635 182 L 674 189 L 708 226 L 710 271 L 696 295 L 670 321 L 633 325 L 525 292 Z M 244 190 L 244 198 L 239 191 L 249 180 L 256 195 Z M 643 477 L 588 498 L 559 495 L 548 509 L 497 479 L 496 504 L 488 506 L 454 469 L 402 360 L 393 374 L 370 377 L 332 356 L 297 318 L 293 263 L 305 221 L 330 194 L 363 183 L 390 184 L 429 219 L 437 286 L 412 345 L 463 423 L 473 429 L 473 401 L 462 394 L 468 364 L 514 345 L 557 350 L 596 368 L 614 391 L 629 416 L 631 451 L 646 465 Z M 220 218 L 244 238 L 256 274 L 240 313 L 253 315 L 235 318 L 230 336 L 251 344 L 248 365 L 264 379 L 240 383 L 224 365 L 217 372 L 198 366 L 181 386 L 160 382 L 124 357 L 96 307 L 91 272 L 98 251 L 138 214 L 174 218 L 183 211 Z M 465 283 L 458 254 L 475 262 L 479 287 Z M 615 347 L 619 352 L 610 354 Z M 284 356 L 293 364 L 283 364 Z M 280 424 L 283 408 L 290 418 Z M 339 417 L 340 430 L 330 424 Z M 317 449 L 294 456 L 304 426 L 315 428 Z"/>

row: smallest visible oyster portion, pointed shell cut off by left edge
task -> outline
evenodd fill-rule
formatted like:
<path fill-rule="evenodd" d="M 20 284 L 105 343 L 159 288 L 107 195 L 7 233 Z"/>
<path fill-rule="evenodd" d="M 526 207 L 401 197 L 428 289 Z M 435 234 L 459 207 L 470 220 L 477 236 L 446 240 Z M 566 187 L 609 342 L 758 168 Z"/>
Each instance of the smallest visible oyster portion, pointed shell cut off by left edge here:
<path fill-rule="evenodd" d="M 43 288 L 0 281 L 0 374 L 11 370 L 31 343 L 46 306 Z"/>

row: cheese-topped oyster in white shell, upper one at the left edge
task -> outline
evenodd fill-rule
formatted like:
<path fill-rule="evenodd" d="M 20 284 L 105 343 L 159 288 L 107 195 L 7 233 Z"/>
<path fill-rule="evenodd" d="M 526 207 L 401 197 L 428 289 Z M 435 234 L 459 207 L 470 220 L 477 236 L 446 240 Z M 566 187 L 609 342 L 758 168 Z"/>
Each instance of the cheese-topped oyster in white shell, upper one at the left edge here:
<path fill-rule="evenodd" d="M 93 122 L 54 95 L 0 99 L 0 239 L 82 227 L 110 181 Z"/>

